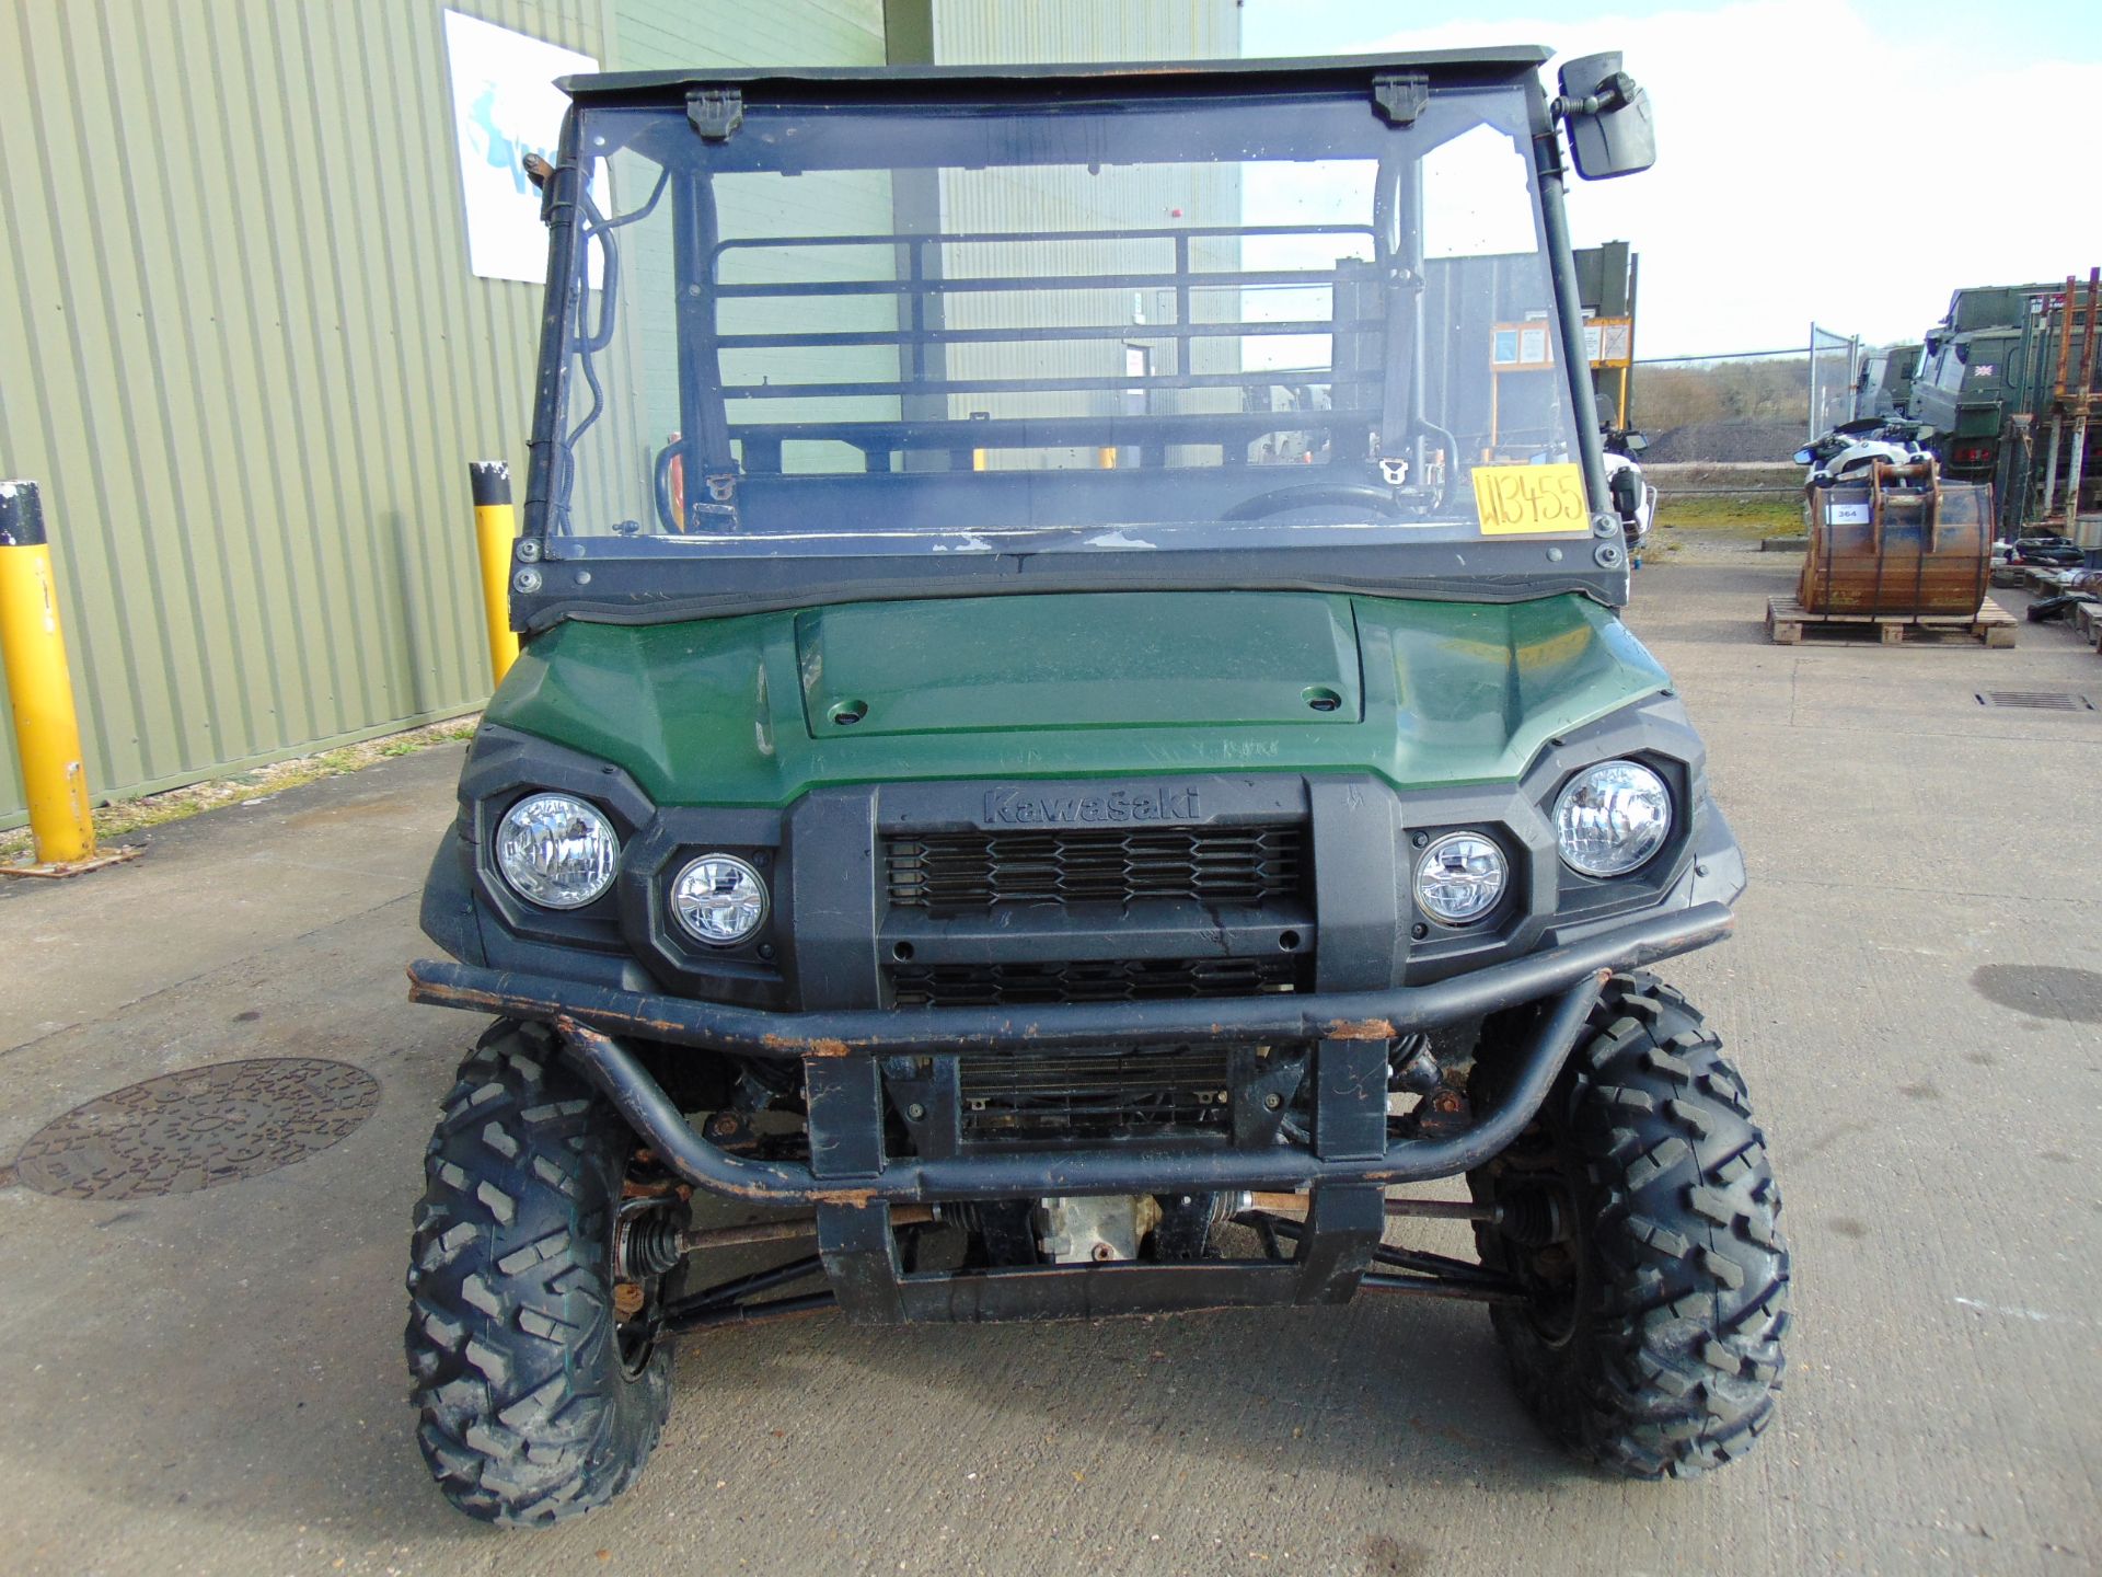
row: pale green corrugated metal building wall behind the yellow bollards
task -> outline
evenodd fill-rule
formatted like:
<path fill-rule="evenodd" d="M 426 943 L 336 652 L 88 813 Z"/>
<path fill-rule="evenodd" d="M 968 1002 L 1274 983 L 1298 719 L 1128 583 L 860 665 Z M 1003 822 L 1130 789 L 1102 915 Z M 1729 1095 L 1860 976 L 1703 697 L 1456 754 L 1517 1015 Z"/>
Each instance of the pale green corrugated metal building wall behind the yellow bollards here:
<path fill-rule="evenodd" d="M 607 67 L 883 61 L 883 0 L 452 8 Z M 467 460 L 523 467 L 540 292 L 467 267 L 441 11 L 0 15 L 0 475 L 44 484 L 99 795 L 488 694 Z"/>

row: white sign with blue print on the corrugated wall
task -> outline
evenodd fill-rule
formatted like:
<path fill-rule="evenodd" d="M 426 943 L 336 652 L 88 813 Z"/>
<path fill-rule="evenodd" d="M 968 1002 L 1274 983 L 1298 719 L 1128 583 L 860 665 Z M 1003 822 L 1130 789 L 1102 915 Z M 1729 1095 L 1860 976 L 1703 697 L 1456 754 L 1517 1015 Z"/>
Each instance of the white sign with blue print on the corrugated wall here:
<path fill-rule="evenodd" d="M 458 11 L 446 13 L 446 61 L 467 189 L 467 263 L 483 280 L 538 284 L 547 278 L 547 227 L 519 160 L 538 153 L 555 162 L 570 105 L 555 78 L 597 71 L 599 63 Z"/>

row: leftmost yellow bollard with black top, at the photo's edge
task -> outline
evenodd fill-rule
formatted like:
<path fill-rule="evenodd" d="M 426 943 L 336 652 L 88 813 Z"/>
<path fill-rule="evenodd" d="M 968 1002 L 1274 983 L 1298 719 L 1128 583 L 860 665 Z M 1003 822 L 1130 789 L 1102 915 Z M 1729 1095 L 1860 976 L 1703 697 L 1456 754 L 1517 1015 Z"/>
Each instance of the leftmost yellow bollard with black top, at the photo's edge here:
<path fill-rule="evenodd" d="M 95 852 L 74 677 L 59 629 L 59 585 L 50 574 L 44 503 L 34 482 L 0 482 L 0 664 L 15 706 L 15 753 L 36 845 L 36 864 L 0 864 L 0 873 L 69 877 L 128 860 L 137 849 Z"/>

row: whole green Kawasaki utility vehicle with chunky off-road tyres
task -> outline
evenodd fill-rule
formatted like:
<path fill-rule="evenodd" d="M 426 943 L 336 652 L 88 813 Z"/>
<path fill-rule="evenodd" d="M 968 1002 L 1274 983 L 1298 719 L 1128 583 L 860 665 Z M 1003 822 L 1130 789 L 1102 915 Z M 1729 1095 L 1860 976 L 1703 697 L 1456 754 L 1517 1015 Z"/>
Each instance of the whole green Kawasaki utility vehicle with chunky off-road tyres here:
<path fill-rule="evenodd" d="M 1743 860 L 1562 208 L 1650 111 L 1545 59 L 568 84 L 412 969 L 496 1016 L 408 1278 L 456 1506 L 610 1499 L 679 1333 L 816 1308 L 1476 1299 L 1612 1470 L 1766 1428 L 1780 1199 L 1633 974 Z"/>

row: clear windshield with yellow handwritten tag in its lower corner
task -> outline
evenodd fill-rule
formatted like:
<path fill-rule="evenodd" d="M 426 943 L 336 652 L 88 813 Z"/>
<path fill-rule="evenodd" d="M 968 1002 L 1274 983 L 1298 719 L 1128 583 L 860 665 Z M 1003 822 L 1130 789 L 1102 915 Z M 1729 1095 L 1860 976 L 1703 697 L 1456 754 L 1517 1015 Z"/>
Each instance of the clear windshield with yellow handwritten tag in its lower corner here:
<path fill-rule="evenodd" d="M 1589 530 L 1520 86 L 578 147 L 551 557 Z"/>

